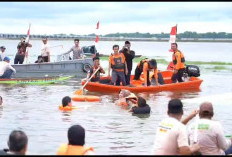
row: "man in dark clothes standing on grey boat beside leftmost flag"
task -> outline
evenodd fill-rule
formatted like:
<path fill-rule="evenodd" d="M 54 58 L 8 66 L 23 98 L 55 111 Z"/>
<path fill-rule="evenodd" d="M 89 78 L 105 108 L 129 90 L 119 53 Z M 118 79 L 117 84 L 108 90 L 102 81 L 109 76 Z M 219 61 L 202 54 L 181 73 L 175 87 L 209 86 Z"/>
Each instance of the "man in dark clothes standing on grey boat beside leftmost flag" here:
<path fill-rule="evenodd" d="M 32 47 L 32 45 L 25 40 L 25 37 L 22 37 L 17 46 L 18 52 L 16 53 L 14 64 L 23 64 L 27 47 Z"/>

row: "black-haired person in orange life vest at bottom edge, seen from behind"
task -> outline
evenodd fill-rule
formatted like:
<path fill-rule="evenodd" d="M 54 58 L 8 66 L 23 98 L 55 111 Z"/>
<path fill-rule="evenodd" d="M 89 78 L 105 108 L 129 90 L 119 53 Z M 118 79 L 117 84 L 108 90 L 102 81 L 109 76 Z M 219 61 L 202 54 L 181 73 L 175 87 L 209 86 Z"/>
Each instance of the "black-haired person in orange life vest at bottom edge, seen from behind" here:
<path fill-rule="evenodd" d="M 73 125 L 68 129 L 68 144 L 62 144 L 57 155 L 94 155 L 92 147 L 85 145 L 85 129 L 80 125 Z"/>

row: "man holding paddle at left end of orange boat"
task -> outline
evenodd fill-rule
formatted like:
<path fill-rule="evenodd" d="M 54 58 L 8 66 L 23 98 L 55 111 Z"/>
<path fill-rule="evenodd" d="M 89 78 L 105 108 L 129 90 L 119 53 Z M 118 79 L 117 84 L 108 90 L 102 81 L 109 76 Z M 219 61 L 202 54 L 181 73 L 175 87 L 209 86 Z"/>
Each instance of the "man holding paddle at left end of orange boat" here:
<path fill-rule="evenodd" d="M 93 67 L 90 68 L 90 71 L 88 72 L 87 78 L 90 78 L 92 74 L 100 67 L 98 72 L 91 78 L 91 82 L 99 82 L 100 81 L 100 74 L 103 73 L 105 74 L 105 71 L 103 68 L 100 66 L 100 60 L 98 57 L 93 58 Z"/>

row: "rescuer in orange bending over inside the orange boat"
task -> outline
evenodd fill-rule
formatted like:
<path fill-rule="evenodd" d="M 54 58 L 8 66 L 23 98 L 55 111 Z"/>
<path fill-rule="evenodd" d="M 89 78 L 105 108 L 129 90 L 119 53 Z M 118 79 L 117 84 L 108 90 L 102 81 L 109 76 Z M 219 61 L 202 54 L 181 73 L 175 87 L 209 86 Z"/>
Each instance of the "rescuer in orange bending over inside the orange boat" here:
<path fill-rule="evenodd" d="M 150 82 L 150 77 L 149 77 L 149 71 L 154 69 L 154 82 L 155 85 L 160 85 L 163 84 L 162 81 L 162 75 L 158 74 L 158 70 L 157 70 L 157 63 L 155 59 L 143 59 L 141 60 L 136 69 L 135 69 L 135 77 L 134 80 L 139 80 L 140 79 L 140 75 L 143 73 L 144 75 L 144 86 L 150 86 L 151 82 Z M 161 75 L 161 76 L 159 76 Z M 159 79 L 160 77 L 160 79 Z"/>

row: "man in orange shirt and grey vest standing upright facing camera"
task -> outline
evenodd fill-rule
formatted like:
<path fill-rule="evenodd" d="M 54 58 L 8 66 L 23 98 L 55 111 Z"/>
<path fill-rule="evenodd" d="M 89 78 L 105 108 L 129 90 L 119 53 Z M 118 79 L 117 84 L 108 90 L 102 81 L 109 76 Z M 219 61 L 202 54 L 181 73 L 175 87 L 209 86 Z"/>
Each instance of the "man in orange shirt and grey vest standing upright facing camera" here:
<path fill-rule="evenodd" d="M 109 59 L 109 71 L 108 76 L 110 77 L 110 71 L 112 68 L 112 84 L 116 85 L 116 81 L 120 78 L 123 86 L 126 86 L 125 74 L 128 74 L 126 59 L 123 53 L 119 53 L 119 46 L 113 46 L 114 53 L 110 56 Z"/>

